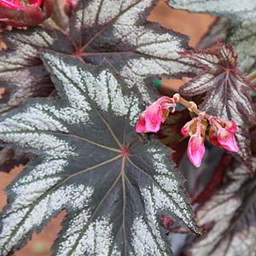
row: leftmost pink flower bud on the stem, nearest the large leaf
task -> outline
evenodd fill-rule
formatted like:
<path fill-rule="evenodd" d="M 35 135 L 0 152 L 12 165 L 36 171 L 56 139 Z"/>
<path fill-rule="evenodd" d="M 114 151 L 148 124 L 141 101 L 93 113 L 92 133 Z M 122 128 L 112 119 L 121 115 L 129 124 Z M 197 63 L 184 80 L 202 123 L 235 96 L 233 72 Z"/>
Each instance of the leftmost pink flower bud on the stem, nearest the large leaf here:
<path fill-rule="evenodd" d="M 175 110 L 175 102 L 167 96 L 160 97 L 152 103 L 143 113 L 140 114 L 136 125 L 137 132 L 157 132 L 161 123 L 166 121 L 169 115 L 169 108 Z"/>

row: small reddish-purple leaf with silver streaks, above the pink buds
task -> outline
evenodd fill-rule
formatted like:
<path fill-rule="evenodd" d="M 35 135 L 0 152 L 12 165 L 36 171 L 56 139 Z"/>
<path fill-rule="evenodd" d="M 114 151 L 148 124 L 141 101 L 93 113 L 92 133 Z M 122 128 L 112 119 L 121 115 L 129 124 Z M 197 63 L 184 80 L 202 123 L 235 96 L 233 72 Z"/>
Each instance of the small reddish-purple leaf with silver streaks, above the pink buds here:
<path fill-rule="evenodd" d="M 233 119 L 237 125 L 236 140 L 240 151 L 236 158 L 252 170 L 252 154 L 247 127 L 255 123 L 250 93 L 253 88 L 238 69 L 237 55 L 232 45 L 218 40 L 216 49 L 192 50 L 181 53 L 182 58 L 204 69 L 180 88 L 183 96 L 204 94 L 200 108 L 223 119 Z"/>

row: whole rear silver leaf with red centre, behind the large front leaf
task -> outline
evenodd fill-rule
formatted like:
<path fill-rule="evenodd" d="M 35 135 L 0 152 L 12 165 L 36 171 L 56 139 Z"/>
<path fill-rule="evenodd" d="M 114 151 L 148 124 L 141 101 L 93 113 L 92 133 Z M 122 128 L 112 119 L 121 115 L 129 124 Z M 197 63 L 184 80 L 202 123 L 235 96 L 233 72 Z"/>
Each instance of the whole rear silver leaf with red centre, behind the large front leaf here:
<path fill-rule="evenodd" d="M 81 0 L 67 35 L 42 27 L 5 32 L 3 40 L 9 50 L 0 54 L 0 85 L 6 89 L 0 113 L 52 90 L 40 60 L 41 49 L 77 55 L 96 65 L 105 57 L 130 87 L 138 87 L 145 101 L 156 96 L 152 80 L 147 83 L 150 79 L 195 71 L 177 61 L 177 51 L 188 49 L 188 38 L 147 21 L 154 3 Z"/>

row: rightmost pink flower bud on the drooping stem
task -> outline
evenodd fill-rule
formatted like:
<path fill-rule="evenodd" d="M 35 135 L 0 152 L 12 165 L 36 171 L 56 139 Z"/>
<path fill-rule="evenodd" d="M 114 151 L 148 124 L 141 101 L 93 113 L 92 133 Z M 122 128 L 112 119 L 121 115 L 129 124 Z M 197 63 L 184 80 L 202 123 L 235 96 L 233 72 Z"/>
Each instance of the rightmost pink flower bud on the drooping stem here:
<path fill-rule="evenodd" d="M 233 120 L 225 121 L 218 117 L 212 116 L 209 119 L 210 130 L 209 137 L 212 145 L 221 146 L 232 152 L 238 152 L 239 148 L 236 143 L 236 124 Z"/>

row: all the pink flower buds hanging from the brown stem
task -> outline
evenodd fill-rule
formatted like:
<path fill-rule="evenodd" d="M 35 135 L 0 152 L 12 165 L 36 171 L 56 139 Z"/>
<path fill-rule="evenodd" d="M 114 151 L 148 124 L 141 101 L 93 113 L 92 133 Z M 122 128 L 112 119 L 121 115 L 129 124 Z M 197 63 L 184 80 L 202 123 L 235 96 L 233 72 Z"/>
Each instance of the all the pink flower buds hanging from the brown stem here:
<path fill-rule="evenodd" d="M 172 108 L 173 113 L 175 107 L 175 99 L 168 96 L 160 97 L 140 114 L 136 131 L 138 133 L 159 131 L 161 123 L 165 122 L 169 115 L 169 108 Z M 227 121 L 216 116 L 208 116 L 204 119 L 199 115 L 184 125 L 181 130 L 184 137 L 190 137 L 187 153 L 195 167 L 201 166 L 201 160 L 205 154 L 205 135 L 208 125 L 210 125 L 208 134 L 212 145 L 232 152 L 239 150 L 235 137 L 236 124 L 233 120 Z"/>

